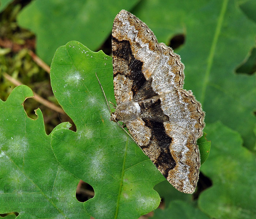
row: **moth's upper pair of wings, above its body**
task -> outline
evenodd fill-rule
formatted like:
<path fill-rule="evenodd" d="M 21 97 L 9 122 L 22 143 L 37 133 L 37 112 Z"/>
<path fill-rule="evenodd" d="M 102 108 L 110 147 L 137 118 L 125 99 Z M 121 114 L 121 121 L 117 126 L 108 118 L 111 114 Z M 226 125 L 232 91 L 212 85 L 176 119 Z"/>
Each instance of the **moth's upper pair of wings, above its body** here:
<path fill-rule="evenodd" d="M 117 104 L 132 100 L 150 78 L 153 78 L 153 85 L 157 82 L 163 84 L 164 91 L 183 86 L 184 66 L 179 56 L 170 49 L 168 54 L 171 55 L 163 57 L 163 46 L 154 33 L 128 11 L 120 11 L 114 19 L 112 53 Z M 150 95 L 155 95 L 155 92 L 148 93 L 148 97 Z"/>

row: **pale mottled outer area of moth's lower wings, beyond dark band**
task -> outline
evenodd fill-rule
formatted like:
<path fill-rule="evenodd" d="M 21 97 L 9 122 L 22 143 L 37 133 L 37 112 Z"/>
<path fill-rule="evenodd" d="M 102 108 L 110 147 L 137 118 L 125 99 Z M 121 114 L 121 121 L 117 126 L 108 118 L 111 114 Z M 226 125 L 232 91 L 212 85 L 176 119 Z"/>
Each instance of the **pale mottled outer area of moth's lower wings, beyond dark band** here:
<path fill-rule="evenodd" d="M 197 139 L 203 135 L 204 112 L 191 91 L 180 89 L 162 94 L 160 100 L 163 114 L 169 116 L 163 125 L 166 134 L 173 139 L 170 153 L 177 163 L 169 171 L 167 180 L 182 192 L 193 193 L 199 177 Z"/>

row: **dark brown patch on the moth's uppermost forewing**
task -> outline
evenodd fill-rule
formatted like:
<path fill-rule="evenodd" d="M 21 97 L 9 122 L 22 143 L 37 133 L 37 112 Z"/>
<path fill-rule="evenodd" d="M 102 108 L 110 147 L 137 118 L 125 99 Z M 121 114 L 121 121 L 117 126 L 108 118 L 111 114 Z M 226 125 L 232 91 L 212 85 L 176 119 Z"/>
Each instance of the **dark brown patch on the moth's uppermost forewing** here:
<path fill-rule="evenodd" d="M 118 44 L 118 46 L 114 46 L 114 44 Z M 121 71 L 116 72 L 116 70 L 114 69 L 114 77 L 116 77 L 117 74 L 122 74 L 127 76 L 130 80 L 132 80 L 133 81 L 132 93 L 133 93 L 133 96 L 135 96 L 136 93 L 139 91 L 139 89 L 146 82 L 146 78 L 142 73 L 143 62 L 134 57 L 134 55 L 132 54 L 131 44 L 127 40 L 118 41 L 118 39 L 112 36 L 112 49 L 113 49 L 113 68 L 115 68 L 114 59 L 116 57 L 119 57 L 124 59 L 127 62 L 128 69 L 129 69 L 129 72 L 127 72 L 126 70 L 124 70 L 123 72 Z"/>

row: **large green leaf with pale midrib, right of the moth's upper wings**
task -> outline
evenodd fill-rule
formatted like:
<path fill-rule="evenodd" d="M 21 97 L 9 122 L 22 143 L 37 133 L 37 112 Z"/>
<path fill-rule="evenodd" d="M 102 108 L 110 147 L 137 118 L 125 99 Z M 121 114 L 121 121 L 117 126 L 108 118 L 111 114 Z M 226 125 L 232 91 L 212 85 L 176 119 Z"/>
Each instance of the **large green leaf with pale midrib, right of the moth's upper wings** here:
<path fill-rule="evenodd" d="M 185 43 L 177 51 L 185 65 L 184 87 L 202 103 L 206 123 L 221 120 L 237 130 L 244 145 L 253 150 L 255 75 L 237 74 L 235 70 L 255 46 L 256 24 L 241 11 L 238 2 L 148 0 L 141 1 L 132 12 L 151 28 L 159 42 L 169 44 L 171 36 L 185 35 Z"/>

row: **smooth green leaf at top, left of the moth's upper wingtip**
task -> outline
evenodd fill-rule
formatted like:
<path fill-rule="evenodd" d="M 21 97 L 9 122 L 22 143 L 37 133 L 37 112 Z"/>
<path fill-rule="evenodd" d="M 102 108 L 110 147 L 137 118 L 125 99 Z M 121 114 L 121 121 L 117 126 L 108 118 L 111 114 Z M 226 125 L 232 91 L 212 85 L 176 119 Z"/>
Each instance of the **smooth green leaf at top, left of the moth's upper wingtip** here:
<path fill-rule="evenodd" d="M 34 0 L 18 16 L 19 26 L 37 36 L 37 54 L 50 64 L 56 49 L 71 40 L 98 49 L 111 33 L 121 9 L 138 0 Z"/>

